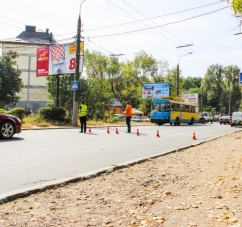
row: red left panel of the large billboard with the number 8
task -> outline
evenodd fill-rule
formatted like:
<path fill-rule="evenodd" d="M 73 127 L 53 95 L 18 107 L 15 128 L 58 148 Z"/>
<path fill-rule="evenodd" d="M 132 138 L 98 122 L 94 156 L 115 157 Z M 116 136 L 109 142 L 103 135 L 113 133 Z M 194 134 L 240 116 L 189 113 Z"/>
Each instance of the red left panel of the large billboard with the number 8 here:
<path fill-rule="evenodd" d="M 49 47 L 37 49 L 37 76 L 49 75 Z"/>

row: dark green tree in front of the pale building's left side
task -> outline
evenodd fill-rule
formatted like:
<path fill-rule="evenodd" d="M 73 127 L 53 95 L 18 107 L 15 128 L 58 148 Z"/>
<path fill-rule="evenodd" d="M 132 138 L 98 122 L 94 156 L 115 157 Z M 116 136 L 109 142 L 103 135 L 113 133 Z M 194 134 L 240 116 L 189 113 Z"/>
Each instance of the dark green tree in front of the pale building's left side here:
<path fill-rule="evenodd" d="M 9 51 L 0 60 L 0 107 L 14 107 L 20 97 L 17 93 L 23 88 L 23 81 L 20 78 L 21 71 L 16 69 L 16 52 Z"/>

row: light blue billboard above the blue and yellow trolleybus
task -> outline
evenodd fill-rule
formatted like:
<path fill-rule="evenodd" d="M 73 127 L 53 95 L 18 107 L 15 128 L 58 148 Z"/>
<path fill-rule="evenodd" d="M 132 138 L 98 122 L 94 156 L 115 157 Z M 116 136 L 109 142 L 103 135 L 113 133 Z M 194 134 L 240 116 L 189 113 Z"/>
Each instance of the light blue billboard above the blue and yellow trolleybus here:
<path fill-rule="evenodd" d="M 142 85 L 142 99 L 157 98 L 169 96 L 170 84 L 169 83 L 150 83 Z"/>

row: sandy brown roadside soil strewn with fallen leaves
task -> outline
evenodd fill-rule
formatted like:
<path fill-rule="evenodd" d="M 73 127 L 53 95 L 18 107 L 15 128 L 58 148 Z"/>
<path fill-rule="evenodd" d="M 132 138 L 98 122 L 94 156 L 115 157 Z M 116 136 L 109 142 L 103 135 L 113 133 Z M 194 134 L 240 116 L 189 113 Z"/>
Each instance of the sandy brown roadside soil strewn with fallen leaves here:
<path fill-rule="evenodd" d="M 242 227 L 242 132 L 0 205 L 0 227 Z"/>

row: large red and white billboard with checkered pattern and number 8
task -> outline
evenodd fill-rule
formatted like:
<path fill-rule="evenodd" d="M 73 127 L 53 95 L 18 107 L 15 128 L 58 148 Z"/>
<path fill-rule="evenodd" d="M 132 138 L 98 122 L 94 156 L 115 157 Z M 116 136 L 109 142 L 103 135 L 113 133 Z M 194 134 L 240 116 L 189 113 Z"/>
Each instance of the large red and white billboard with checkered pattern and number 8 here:
<path fill-rule="evenodd" d="M 84 42 L 80 43 L 80 66 L 83 69 Z M 37 49 L 36 76 L 74 73 L 76 68 L 76 43 L 45 46 Z"/>

